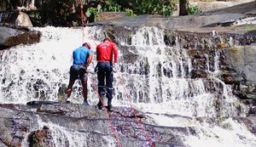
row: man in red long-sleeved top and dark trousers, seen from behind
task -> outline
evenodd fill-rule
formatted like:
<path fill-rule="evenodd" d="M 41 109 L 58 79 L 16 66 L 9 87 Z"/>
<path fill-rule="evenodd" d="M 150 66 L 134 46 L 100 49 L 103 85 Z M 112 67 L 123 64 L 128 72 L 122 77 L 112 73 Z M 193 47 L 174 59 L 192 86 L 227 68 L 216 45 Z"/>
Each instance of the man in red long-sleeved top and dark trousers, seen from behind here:
<path fill-rule="evenodd" d="M 109 37 L 104 38 L 103 42 L 96 46 L 96 60 L 98 92 L 101 98 L 106 95 L 108 98 L 107 109 L 111 110 L 113 99 L 113 66 L 118 61 L 118 50 L 116 44 Z M 102 109 L 103 104 L 101 100 L 99 100 L 97 106 L 100 110 Z"/>

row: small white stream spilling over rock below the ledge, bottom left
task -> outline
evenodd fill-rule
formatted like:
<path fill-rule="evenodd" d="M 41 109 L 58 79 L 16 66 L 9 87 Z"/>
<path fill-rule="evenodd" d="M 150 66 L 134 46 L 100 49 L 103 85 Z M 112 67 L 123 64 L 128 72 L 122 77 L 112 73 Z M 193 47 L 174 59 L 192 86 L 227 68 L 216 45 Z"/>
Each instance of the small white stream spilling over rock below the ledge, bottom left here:
<path fill-rule="evenodd" d="M 52 122 L 44 122 L 42 118 L 37 116 L 36 120 L 38 121 L 38 126 L 33 128 L 35 130 L 41 129 L 44 126 L 49 127 L 49 138 L 52 142 L 46 146 L 68 146 L 68 147 L 84 147 L 84 146 L 94 146 L 95 141 L 97 144 L 101 144 L 103 147 L 114 146 L 115 139 L 111 135 L 105 135 L 102 138 L 99 137 L 97 132 L 88 133 L 84 129 L 75 130 L 74 128 L 61 127 Z M 29 146 L 26 142 L 27 139 L 24 139 L 22 146 Z M 54 144 L 54 145 L 53 145 Z"/>

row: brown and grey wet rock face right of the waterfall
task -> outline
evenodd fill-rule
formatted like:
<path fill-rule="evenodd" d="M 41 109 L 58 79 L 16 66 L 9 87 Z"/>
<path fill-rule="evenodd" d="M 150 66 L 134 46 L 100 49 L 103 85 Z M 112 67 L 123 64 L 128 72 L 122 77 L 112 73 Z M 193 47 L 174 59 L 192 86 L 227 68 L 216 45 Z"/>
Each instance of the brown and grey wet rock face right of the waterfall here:
<path fill-rule="evenodd" d="M 177 32 L 184 49 L 188 49 L 194 65 L 191 78 L 207 78 L 215 69 L 218 58 L 219 78 L 233 86 L 233 93 L 241 99 L 256 98 L 255 42 L 252 33 L 183 33 Z M 210 63 L 207 67 L 207 63 Z"/>

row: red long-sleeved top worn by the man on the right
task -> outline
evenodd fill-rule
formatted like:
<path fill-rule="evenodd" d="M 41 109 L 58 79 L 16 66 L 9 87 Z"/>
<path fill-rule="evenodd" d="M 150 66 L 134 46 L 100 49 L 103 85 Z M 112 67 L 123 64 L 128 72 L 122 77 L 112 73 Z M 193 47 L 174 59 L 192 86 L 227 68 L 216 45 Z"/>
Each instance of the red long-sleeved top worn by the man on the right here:
<path fill-rule="evenodd" d="M 113 58 L 114 55 L 114 58 Z M 118 51 L 114 42 L 105 41 L 96 47 L 96 59 L 98 62 L 110 61 L 117 63 Z"/>

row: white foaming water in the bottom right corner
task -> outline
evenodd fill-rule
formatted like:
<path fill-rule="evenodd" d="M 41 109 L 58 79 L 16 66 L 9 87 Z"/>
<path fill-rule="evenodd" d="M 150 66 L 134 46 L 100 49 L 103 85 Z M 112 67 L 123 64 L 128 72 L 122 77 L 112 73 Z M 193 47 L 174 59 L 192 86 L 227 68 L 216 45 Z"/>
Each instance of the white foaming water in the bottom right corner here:
<path fill-rule="evenodd" d="M 191 147 L 207 144 L 208 147 L 253 147 L 256 137 L 241 124 L 232 118 L 221 122 L 220 125 L 209 125 L 207 122 L 195 122 L 196 136 L 189 136 L 186 144 Z"/>

